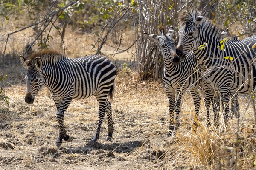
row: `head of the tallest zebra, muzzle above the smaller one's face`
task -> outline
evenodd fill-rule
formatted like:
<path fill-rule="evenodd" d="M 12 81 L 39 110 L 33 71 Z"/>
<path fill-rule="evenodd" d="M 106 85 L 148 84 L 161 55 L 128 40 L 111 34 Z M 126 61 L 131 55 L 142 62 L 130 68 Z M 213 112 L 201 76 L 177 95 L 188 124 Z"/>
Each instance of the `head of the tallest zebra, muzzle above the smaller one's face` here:
<path fill-rule="evenodd" d="M 203 37 L 202 34 L 204 34 L 200 26 L 204 20 L 204 14 L 198 10 L 190 9 L 180 16 L 182 24 L 178 31 L 179 42 L 177 49 L 181 55 L 185 56 L 190 51 L 199 49 L 201 45 L 200 37 Z"/>

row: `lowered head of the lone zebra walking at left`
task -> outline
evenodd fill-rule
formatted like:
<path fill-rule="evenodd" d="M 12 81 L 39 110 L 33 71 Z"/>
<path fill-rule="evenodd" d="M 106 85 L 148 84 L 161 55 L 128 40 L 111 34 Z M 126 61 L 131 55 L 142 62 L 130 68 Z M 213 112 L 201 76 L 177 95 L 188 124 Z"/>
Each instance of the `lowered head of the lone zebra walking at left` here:
<path fill-rule="evenodd" d="M 20 62 L 23 67 L 28 69 L 25 77 L 27 85 L 25 102 L 32 104 L 38 91 L 43 88 L 44 78 L 41 74 L 43 62 L 40 57 L 36 57 L 34 60 L 32 60 L 25 59 L 21 55 Z"/>

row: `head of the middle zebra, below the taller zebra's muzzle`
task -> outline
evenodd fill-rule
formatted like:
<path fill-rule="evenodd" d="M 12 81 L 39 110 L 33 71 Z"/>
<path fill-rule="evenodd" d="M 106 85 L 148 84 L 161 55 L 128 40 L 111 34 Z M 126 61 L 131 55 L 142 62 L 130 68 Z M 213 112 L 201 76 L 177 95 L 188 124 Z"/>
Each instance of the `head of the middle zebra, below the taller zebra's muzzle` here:
<path fill-rule="evenodd" d="M 180 62 L 179 56 L 176 54 L 175 42 L 172 39 L 173 27 L 169 29 L 168 33 L 165 34 L 163 26 L 159 26 L 159 35 L 144 33 L 145 37 L 149 40 L 158 42 L 162 51 L 163 57 L 171 61 L 174 65 L 178 65 Z"/>

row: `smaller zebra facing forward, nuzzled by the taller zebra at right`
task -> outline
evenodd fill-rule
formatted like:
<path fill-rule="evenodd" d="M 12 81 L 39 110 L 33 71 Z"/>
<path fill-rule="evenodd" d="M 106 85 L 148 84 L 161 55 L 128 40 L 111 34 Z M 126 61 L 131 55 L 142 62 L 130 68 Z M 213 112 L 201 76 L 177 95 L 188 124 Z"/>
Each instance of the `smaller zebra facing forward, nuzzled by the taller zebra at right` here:
<path fill-rule="evenodd" d="M 181 99 L 184 90 L 190 90 L 195 105 L 195 127 L 198 124 L 198 112 L 200 109 L 199 85 L 201 84 L 201 74 L 193 53 L 186 55 L 186 58 L 178 64 L 179 58 L 175 52 L 175 42 L 172 39 L 173 27 L 167 34 L 163 26 L 159 26 L 159 35 L 144 33 L 145 37 L 153 42 L 158 42 L 163 54 L 164 70 L 163 82 L 169 99 L 170 125 L 166 137 L 175 136 L 178 128 Z M 176 93 L 176 95 L 175 95 Z M 176 99 L 175 99 L 176 96 Z M 176 112 L 176 116 L 175 116 Z"/>

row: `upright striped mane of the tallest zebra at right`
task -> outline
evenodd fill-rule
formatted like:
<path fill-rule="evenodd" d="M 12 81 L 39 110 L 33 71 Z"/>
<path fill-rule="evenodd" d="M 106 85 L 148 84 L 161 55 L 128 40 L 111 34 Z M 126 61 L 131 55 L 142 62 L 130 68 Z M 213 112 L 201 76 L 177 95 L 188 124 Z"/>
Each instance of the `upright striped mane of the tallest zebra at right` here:
<path fill-rule="evenodd" d="M 186 25 L 188 23 L 194 25 L 194 20 L 202 15 L 201 11 L 198 11 L 197 9 L 189 8 L 188 10 L 184 11 L 183 14 L 179 15 L 179 20 L 181 23 L 181 26 Z M 224 30 L 212 23 L 212 20 L 208 19 L 207 17 L 204 17 L 199 26 L 202 26 L 202 28 L 207 28 L 215 32 L 215 39 L 218 41 L 221 41 L 224 39 L 224 37 L 227 37 L 223 34 L 221 34 Z M 229 36 L 227 37 L 228 41 L 237 40 L 237 37 L 234 36 L 229 32 Z"/>

